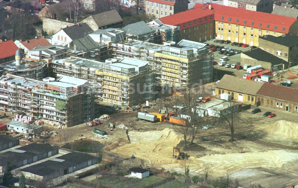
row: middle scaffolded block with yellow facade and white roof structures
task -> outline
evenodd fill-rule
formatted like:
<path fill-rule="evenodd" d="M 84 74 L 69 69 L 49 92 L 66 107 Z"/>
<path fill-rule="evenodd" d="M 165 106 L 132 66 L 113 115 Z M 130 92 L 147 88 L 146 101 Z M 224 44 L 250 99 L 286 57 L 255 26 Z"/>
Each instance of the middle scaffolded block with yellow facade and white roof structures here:
<path fill-rule="evenodd" d="M 108 59 L 96 74 L 102 80 L 104 101 L 134 106 L 154 99 L 155 70 L 148 62 L 131 58 Z"/>

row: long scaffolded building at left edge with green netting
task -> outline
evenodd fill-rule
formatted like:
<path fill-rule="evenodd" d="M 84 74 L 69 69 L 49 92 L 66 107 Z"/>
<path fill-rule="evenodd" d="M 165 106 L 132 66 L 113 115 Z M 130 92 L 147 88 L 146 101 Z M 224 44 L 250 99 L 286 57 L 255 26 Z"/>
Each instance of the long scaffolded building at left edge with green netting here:
<path fill-rule="evenodd" d="M 0 109 L 71 127 L 94 116 L 94 89 L 87 80 L 61 76 L 42 81 L 19 76 L 0 80 Z"/>

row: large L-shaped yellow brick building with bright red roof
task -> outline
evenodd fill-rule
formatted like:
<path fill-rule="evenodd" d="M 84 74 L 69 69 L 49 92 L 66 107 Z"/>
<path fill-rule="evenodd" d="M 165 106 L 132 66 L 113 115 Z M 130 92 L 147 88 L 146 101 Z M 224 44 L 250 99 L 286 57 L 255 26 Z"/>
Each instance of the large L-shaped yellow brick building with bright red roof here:
<path fill-rule="evenodd" d="M 196 4 L 192 10 L 159 20 L 180 26 L 180 39 L 199 42 L 216 38 L 258 46 L 259 37 L 264 35 L 279 37 L 298 32 L 297 18 L 219 4 Z"/>

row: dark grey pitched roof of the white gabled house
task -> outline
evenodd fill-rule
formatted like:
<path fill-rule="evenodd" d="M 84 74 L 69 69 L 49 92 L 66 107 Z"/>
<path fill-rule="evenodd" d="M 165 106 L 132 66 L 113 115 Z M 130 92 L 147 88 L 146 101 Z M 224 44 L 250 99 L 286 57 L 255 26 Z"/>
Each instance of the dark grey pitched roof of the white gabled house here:
<path fill-rule="evenodd" d="M 80 23 L 74 26 L 65 27 L 62 29 L 72 40 L 86 37 L 89 33 L 92 33 L 93 30 L 86 24 Z"/>

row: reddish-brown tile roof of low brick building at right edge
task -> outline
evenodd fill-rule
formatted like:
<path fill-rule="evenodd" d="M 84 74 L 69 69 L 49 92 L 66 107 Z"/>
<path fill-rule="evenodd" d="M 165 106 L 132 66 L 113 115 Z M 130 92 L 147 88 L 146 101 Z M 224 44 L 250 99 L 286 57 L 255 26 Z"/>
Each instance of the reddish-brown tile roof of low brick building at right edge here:
<path fill-rule="evenodd" d="M 293 89 L 285 86 L 264 83 L 257 92 L 257 95 L 294 102 L 298 104 L 298 89 Z"/>

